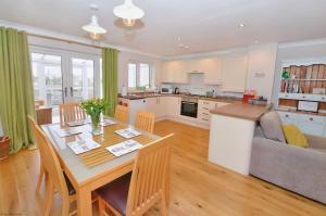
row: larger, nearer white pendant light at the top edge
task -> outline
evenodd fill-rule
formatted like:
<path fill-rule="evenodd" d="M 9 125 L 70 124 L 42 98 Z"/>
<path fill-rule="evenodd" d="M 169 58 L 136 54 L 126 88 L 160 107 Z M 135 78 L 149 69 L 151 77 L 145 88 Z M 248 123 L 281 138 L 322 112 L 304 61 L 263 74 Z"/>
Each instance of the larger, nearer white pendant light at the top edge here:
<path fill-rule="evenodd" d="M 143 11 L 133 3 L 133 0 L 125 0 L 125 3 L 113 9 L 113 14 L 123 20 L 123 23 L 131 27 L 136 20 L 141 18 Z"/>

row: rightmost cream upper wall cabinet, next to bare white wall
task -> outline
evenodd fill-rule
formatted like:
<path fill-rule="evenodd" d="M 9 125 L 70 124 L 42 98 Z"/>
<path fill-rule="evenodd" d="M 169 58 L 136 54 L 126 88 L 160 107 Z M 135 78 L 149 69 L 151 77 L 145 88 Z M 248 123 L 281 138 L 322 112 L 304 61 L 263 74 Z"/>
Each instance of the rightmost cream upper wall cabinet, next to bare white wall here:
<path fill-rule="evenodd" d="M 222 58 L 223 91 L 243 92 L 247 81 L 247 55 Z"/>

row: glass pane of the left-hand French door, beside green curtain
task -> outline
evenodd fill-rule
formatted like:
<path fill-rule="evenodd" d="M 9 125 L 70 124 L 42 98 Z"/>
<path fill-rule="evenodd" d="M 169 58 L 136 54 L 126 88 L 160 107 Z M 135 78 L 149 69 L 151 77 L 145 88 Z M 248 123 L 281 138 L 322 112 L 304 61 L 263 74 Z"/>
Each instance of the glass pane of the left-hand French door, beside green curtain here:
<path fill-rule="evenodd" d="M 58 104 L 63 103 L 61 56 L 32 53 L 32 66 L 35 99 L 51 106 L 53 116 L 59 116 Z"/>

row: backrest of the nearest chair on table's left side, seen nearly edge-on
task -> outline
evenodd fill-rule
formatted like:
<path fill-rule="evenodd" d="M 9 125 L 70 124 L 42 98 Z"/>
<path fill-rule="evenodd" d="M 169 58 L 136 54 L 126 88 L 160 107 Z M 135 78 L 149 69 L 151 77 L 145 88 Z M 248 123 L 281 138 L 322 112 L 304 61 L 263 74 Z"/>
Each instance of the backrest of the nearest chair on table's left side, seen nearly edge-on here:
<path fill-rule="evenodd" d="M 54 183 L 55 189 L 62 196 L 62 202 L 68 203 L 70 195 L 65 183 L 62 168 L 60 166 L 59 158 L 54 152 L 51 141 L 46 137 L 45 132 L 39 128 L 36 120 L 28 115 L 32 128 L 34 131 L 35 141 L 39 148 L 41 163 L 45 171 L 48 174 L 48 178 Z"/>

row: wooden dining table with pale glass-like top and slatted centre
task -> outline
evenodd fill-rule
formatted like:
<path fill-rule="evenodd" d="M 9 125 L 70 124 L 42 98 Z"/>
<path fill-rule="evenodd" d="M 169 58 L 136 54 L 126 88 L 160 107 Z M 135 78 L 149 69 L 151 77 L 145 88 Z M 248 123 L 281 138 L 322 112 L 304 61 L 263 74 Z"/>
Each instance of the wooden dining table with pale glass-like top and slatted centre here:
<path fill-rule="evenodd" d="M 131 139 L 141 145 L 160 139 L 159 136 L 135 128 L 133 125 L 121 123 L 115 118 L 106 116 L 104 118 L 114 124 L 101 126 L 100 135 L 93 135 L 90 123 L 86 120 L 85 124 L 75 127 L 61 124 L 41 126 L 55 150 L 63 171 L 76 190 L 78 216 L 92 215 L 92 191 L 133 170 L 137 150 L 122 156 L 115 156 L 106 150 L 108 147 L 128 140 L 120 136 L 116 132 L 117 130 L 133 128 L 139 131 L 140 135 Z M 70 130 L 71 128 L 75 132 L 79 132 L 66 137 L 58 132 L 59 130 Z M 99 143 L 100 147 L 76 154 L 70 148 L 70 143 L 83 139 L 91 139 Z"/>

